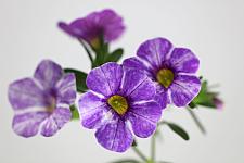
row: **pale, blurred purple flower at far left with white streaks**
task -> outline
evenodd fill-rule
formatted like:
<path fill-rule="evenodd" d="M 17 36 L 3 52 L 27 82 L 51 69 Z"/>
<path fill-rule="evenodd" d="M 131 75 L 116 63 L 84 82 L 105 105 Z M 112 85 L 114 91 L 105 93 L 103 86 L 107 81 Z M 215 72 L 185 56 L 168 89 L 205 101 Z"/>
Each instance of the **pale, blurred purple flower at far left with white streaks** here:
<path fill-rule="evenodd" d="M 76 99 L 74 74 L 64 74 L 56 63 L 42 61 L 34 77 L 23 78 L 9 87 L 9 100 L 15 115 L 13 130 L 23 137 L 40 134 L 53 136 L 67 123 L 69 105 Z"/>

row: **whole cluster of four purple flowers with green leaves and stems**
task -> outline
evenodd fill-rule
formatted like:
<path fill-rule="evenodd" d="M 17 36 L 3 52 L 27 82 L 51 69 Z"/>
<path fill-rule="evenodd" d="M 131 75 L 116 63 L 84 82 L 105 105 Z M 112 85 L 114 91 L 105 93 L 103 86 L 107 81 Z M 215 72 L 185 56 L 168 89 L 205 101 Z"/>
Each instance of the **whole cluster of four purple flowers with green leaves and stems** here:
<path fill-rule="evenodd" d="M 93 12 L 70 24 L 60 22 L 59 26 L 82 43 L 92 70 L 87 74 L 43 60 L 34 77 L 12 83 L 9 101 L 14 110 L 13 130 L 20 136 L 40 131 L 50 137 L 78 117 L 84 127 L 95 130 L 102 147 L 125 152 L 136 137 L 154 137 L 162 124 L 189 139 L 178 125 L 159 122 L 168 104 L 188 108 L 191 115 L 198 105 L 222 108 L 218 93 L 196 76 L 197 57 L 166 38 L 149 39 L 139 46 L 136 57 L 116 63 L 123 49 L 110 52 L 108 43 L 120 37 L 125 25 L 113 10 Z M 82 95 L 76 105 L 77 93 Z"/>

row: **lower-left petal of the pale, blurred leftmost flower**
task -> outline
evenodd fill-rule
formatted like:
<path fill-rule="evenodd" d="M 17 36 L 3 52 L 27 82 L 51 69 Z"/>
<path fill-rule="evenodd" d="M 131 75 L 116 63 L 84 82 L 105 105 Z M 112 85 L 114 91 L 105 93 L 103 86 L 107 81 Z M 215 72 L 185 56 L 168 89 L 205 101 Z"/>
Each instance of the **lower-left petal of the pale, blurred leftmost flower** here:
<path fill-rule="evenodd" d="M 48 117 L 47 112 L 31 112 L 17 114 L 13 118 L 13 130 L 23 137 L 37 135 L 40 124 Z"/>

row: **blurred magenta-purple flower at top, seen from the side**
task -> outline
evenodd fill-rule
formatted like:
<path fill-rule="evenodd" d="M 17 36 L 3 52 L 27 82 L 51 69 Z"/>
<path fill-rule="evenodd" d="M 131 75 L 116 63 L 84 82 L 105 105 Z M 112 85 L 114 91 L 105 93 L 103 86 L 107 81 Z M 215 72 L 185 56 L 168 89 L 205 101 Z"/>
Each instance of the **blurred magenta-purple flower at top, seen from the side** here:
<path fill-rule="evenodd" d="M 105 42 L 111 42 L 125 30 L 123 18 L 110 9 L 92 12 L 70 24 L 60 22 L 59 26 L 70 36 L 86 40 L 93 48 L 100 46 L 100 37 L 103 37 Z"/>

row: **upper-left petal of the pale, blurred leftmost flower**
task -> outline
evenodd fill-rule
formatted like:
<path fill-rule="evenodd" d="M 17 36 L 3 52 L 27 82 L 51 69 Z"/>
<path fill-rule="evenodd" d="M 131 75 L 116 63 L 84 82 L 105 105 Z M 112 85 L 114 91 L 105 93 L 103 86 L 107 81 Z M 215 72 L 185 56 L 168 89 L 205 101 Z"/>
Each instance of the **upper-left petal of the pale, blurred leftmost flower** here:
<path fill-rule="evenodd" d="M 24 78 L 12 83 L 9 87 L 9 100 L 14 110 L 31 106 L 47 106 L 43 90 L 33 78 Z"/>

